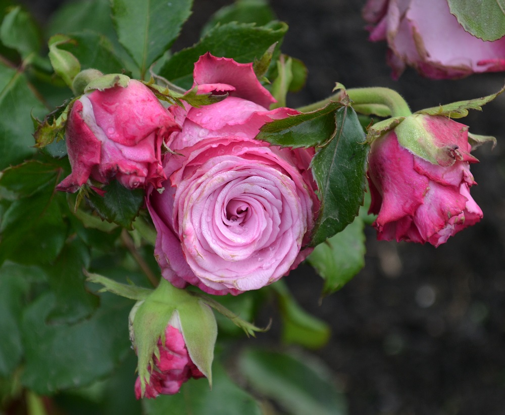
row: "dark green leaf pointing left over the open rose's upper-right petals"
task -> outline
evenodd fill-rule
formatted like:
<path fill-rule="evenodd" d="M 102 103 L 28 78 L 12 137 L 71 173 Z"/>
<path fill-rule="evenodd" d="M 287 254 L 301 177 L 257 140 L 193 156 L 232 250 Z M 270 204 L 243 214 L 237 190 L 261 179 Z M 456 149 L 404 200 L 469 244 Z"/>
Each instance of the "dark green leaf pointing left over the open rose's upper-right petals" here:
<path fill-rule="evenodd" d="M 267 122 L 260 128 L 256 139 L 283 147 L 324 146 L 335 136 L 335 110 L 342 105 L 331 102 L 316 111 Z"/>

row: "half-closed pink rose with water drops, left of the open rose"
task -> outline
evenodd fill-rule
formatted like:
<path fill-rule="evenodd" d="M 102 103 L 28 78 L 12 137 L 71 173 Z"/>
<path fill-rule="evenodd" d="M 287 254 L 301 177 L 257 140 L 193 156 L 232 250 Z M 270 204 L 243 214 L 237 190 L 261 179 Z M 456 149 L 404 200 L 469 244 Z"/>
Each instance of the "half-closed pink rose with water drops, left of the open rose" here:
<path fill-rule="evenodd" d="M 65 137 L 72 173 L 57 187 L 76 192 L 89 178 L 126 188 L 158 186 L 164 137 L 179 129 L 174 117 L 141 82 L 94 90 L 75 101 Z"/>

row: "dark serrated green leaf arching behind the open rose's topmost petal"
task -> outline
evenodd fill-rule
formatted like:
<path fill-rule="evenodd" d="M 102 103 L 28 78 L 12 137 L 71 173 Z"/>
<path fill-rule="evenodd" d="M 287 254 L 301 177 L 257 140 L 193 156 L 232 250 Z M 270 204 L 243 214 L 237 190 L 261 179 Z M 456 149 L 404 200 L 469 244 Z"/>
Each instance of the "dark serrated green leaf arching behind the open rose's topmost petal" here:
<path fill-rule="evenodd" d="M 193 66 L 201 55 L 210 52 L 217 57 L 232 58 L 240 63 L 259 59 L 287 31 L 285 23 L 268 26 L 235 22 L 216 26 L 191 48 L 175 53 L 160 69 L 160 75 L 189 89 L 193 83 Z"/>

